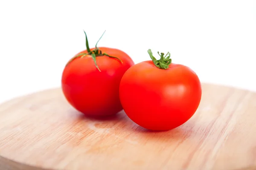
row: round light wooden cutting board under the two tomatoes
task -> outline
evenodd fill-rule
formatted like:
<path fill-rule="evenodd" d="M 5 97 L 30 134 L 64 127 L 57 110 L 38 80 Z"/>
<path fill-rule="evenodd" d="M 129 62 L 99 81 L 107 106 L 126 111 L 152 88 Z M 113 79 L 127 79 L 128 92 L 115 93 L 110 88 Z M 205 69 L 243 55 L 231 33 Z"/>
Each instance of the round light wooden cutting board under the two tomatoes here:
<path fill-rule="evenodd" d="M 0 169 L 256 169 L 256 93 L 202 88 L 195 115 L 162 132 L 139 127 L 124 112 L 88 118 L 59 88 L 13 99 L 0 105 Z"/>

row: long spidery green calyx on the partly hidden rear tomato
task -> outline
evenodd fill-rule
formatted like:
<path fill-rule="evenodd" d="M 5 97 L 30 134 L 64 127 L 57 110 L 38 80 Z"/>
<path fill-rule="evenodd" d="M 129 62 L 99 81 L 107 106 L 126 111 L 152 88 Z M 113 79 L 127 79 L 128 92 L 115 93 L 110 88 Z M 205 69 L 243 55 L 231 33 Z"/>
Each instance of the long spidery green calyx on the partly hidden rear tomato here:
<path fill-rule="evenodd" d="M 105 31 L 103 32 L 102 36 L 104 35 L 104 33 L 105 33 Z M 76 58 L 83 58 L 83 57 L 86 57 L 87 55 L 90 55 L 90 56 L 92 57 L 93 62 L 94 62 L 94 64 L 95 64 L 96 68 L 97 68 L 99 71 L 100 71 L 100 69 L 99 69 L 99 66 L 97 65 L 96 57 L 107 56 L 107 57 L 111 57 L 111 58 L 118 59 L 121 63 L 123 63 L 122 60 L 119 59 L 118 57 L 113 57 L 113 56 L 110 56 L 110 55 L 108 55 L 108 54 L 106 54 L 106 53 L 103 53 L 103 54 L 102 54 L 102 51 L 97 47 L 98 42 L 99 42 L 99 40 L 102 38 L 102 36 L 101 36 L 101 37 L 99 38 L 99 40 L 97 41 L 97 43 L 96 43 L 96 45 L 95 45 L 95 48 L 94 48 L 93 50 L 90 50 L 89 43 L 88 43 L 88 39 L 87 39 L 87 35 L 86 35 L 85 31 L 84 31 L 84 34 L 85 34 L 85 45 L 86 45 L 87 53 L 81 53 L 81 54 L 76 55 L 75 57 L 73 57 L 72 59 L 70 59 L 70 61 L 67 63 L 67 65 L 68 65 L 70 62 L 72 62 L 74 59 L 76 59 Z M 66 66 L 67 66 L 67 65 L 66 65 Z"/>

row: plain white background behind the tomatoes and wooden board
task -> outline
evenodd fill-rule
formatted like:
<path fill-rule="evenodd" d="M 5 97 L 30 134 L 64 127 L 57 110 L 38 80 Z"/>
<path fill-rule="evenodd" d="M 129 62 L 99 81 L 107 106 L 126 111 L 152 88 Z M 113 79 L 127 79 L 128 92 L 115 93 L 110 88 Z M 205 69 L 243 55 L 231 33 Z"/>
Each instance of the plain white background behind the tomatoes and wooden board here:
<path fill-rule="evenodd" d="M 70 59 L 119 48 L 135 63 L 170 51 L 202 82 L 256 91 L 256 1 L 1 0 L 0 102 L 60 86 Z"/>

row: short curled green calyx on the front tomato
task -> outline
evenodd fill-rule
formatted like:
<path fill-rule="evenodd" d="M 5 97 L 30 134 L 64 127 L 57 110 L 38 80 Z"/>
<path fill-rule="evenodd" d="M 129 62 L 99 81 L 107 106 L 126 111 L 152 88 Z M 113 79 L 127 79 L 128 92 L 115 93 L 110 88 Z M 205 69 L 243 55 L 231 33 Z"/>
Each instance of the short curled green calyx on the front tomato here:
<path fill-rule="evenodd" d="M 161 69 L 169 68 L 169 65 L 172 63 L 172 59 L 170 59 L 171 54 L 168 52 L 164 56 L 164 53 L 161 53 L 161 54 L 159 54 L 159 52 L 157 52 L 157 53 L 158 53 L 158 55 L 160 55 L 160 59 L 158 59 L 158 60 L 153 56 L 151 49 L 148 49 L 148 54 L 149 54 L 150 58 L 152 59 L 152 61 L 154 62 L 155 66 L 157 66 L 158 68 L 161 68 Z"/>

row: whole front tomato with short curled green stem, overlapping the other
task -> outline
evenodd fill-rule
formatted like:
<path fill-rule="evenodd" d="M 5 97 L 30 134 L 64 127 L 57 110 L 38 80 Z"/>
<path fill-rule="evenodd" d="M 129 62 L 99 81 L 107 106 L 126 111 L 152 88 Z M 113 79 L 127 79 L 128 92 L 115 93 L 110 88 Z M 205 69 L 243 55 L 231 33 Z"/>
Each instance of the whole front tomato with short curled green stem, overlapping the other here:
<path fill-rule="evenodd" d="M 201 82 L 189 67 L 172 63 L 170 54 L 140 62 L 123 75 L 119 96 L 125 113 L 149 130 L 170 130 L 189 120 L 201 101 Z M 167 56 L 167 55 L 166 55 Z"/>

